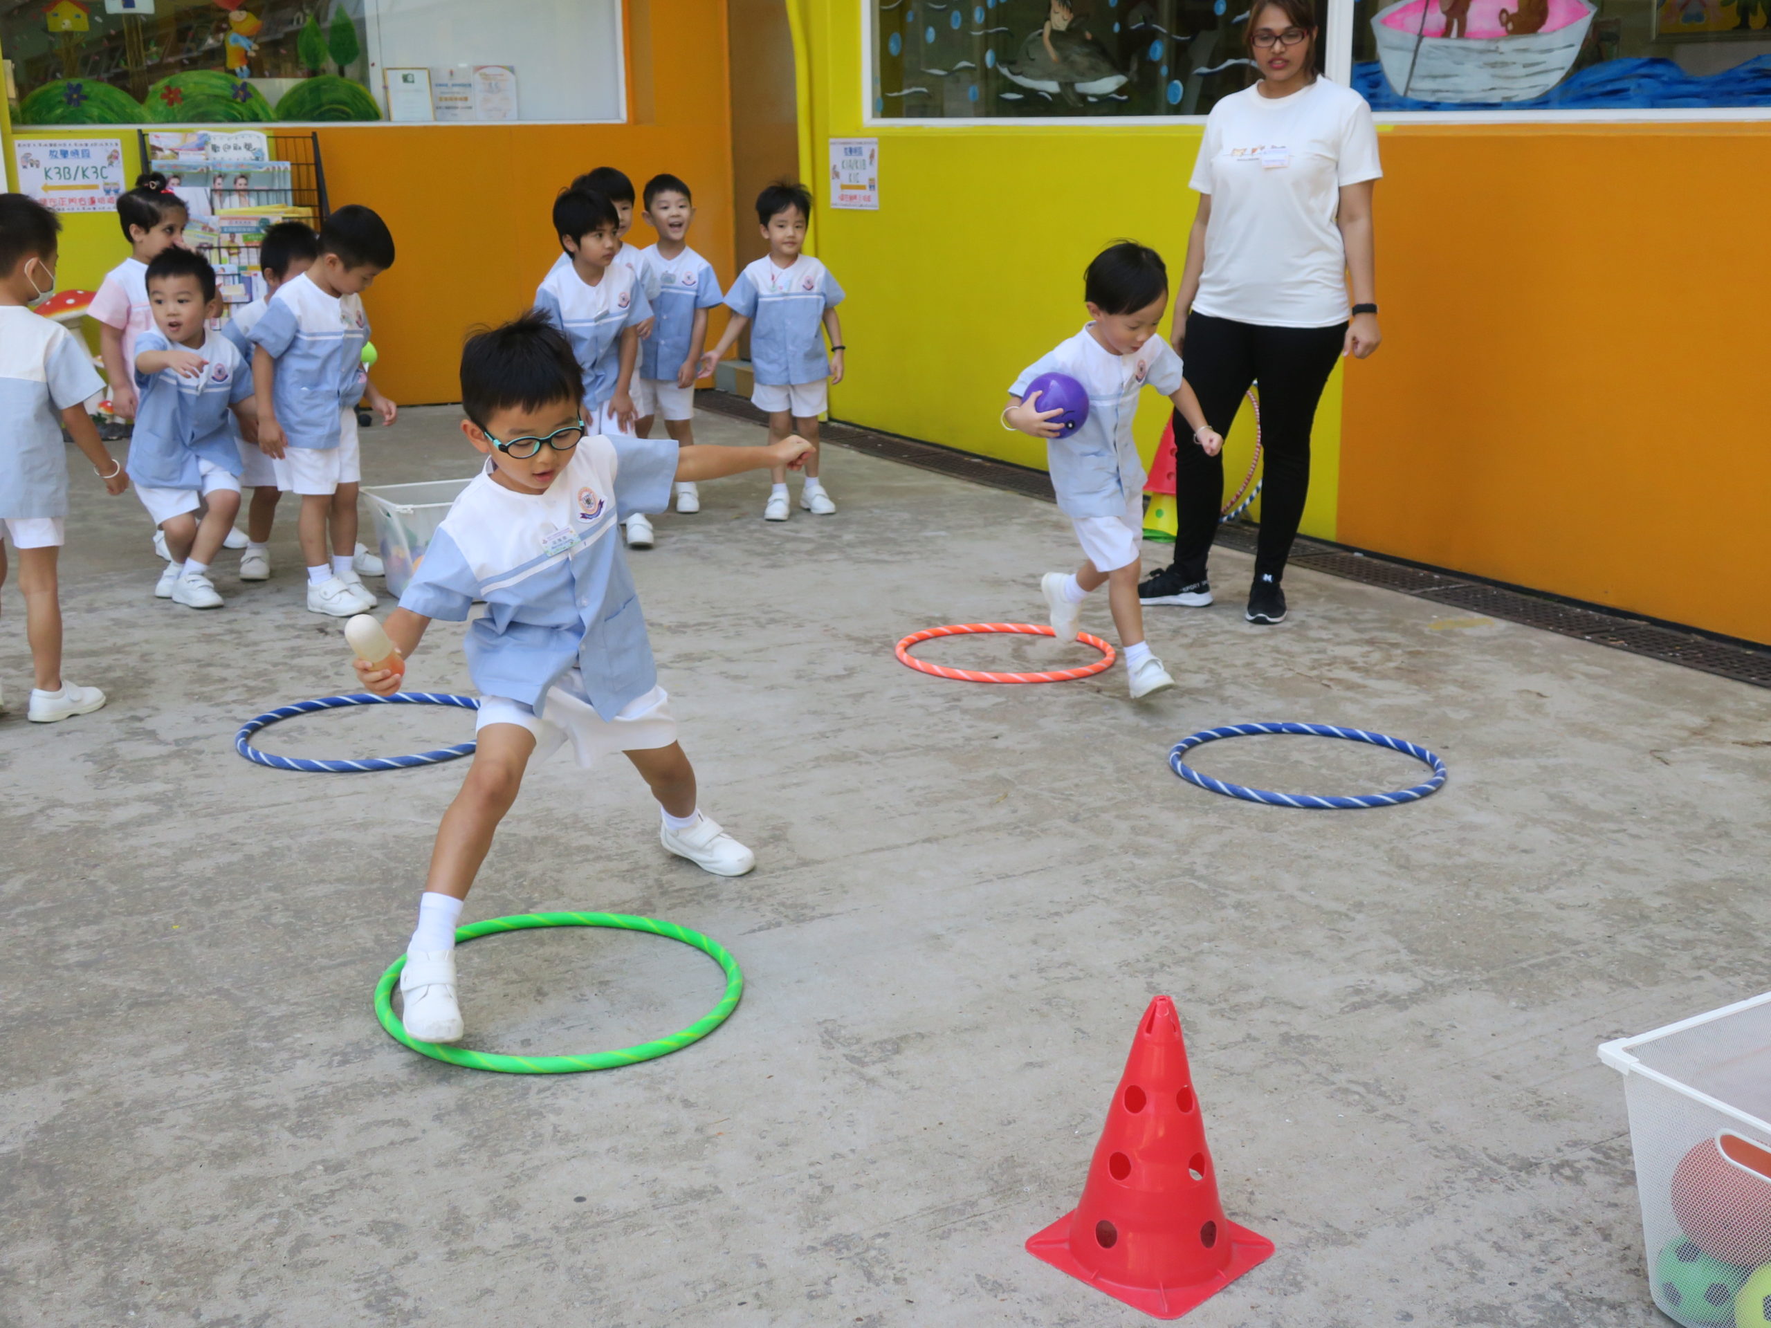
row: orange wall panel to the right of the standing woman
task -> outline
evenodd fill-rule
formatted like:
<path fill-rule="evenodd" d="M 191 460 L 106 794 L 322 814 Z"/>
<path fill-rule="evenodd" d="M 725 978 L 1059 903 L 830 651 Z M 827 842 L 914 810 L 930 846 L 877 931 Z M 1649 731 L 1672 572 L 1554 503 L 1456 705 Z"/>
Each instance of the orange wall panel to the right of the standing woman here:
<path fill-rule="evenodd" d="M 1383 165 L 1339 538 L 1771 643 L 1771 126 L 1422 126 Z"/>

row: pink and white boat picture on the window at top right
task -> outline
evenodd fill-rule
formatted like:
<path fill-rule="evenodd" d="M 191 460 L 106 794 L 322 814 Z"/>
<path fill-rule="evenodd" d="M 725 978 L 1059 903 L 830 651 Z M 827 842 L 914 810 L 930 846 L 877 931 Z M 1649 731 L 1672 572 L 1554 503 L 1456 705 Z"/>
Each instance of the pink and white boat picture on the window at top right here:
<path fill-rule="evenodd" d="M 1396 0 L 1371 19 L 1383 78 L 1417 101 L 1532 101 L 1560 83 L 1597 12 L 1589 0 L 1550 0 L 1539 32 L 1512 35 L 1500 21 L 1520 0 L 1470 0 L 1463 37 L 1445 35 L 1438 0 Z"/>

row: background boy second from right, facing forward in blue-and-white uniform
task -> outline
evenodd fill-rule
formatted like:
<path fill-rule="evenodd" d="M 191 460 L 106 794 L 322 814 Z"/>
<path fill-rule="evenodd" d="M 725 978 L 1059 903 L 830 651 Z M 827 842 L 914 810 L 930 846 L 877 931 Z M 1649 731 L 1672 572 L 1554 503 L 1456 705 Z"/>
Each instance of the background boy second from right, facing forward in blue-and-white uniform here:
<path fill-rule="evenodd" d="M 714 266 L 689 248 L 685 235 L 694 220 L 689 186 L 675 175 L 646 181 L 646 225 L 659 243 L 641 250 L 657 296 L 652 299 L 652 335 L 639 344 L 639 437 L 652 437 L 653 416 L 664 416 L 664 432 L 682 446 L 694 446 L 694 375 L 707 345 L 707 312 L 719 303 L 719 276 Z M 677 485 L 677 510 L 700 512 L 701 496 L 692 483 Z M 641 517 L 643 519 L 643 517 Z M 634 544 L 634 528 L 627 542 Z"/>

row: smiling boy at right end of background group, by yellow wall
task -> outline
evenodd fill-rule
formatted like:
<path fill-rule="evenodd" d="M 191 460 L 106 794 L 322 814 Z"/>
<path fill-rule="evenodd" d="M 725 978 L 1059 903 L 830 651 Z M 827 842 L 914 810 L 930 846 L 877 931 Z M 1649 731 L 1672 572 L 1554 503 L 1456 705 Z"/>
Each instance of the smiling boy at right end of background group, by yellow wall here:
<path fill-rule="evenodd" d="M 769 413 L 769 437 L 802 434 L 811 441 L 806 459 L 806 487 L 799 505 L 827 517 L 836 503 L 818 482 L 818 416 L 829 405 L 829 382 L 843 381 L 843 324 L 836 306 L 843 289 L 829 269 L 804 253 L 806 223 L 811 220 L 811 193 L 804 184 L 770 184 L 756 197 L 769 253 L 753 262 L 726 292 L 733 319 L 719 345 L 701 356 L 698 377 L 708 377 L 726 351 L 751 328 L 751 404 Z M 824 352 L 820 326 L 831 335 L 831 354 Z M 786 471 L 774 473 L 774 489 L 763 508 L 763 521 L 786 521 Z"/>

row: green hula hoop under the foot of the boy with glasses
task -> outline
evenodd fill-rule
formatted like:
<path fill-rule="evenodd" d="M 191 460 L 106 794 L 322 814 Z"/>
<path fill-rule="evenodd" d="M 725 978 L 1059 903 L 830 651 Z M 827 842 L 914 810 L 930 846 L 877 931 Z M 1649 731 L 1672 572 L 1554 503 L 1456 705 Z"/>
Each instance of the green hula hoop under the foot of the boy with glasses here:
<path fill-rule="evenodd" d="M 655 937 L 680 940 L 684 946 L 694 946 L 724 969 L 726 993 L 719 997 L 717 1006 L 687 1029 L 673 1032 L 668 1038 L 659 1038 L 657 1041 L 623 1046 L 616 1052 L 592 1052 L 590 1055 L 499 1055 L 498 1052 L 473 1052 L 464 1046 L 420 1041 L 406 1031 L 406 1025 L 393 1013 L 393 988 L 400 981 L 400 969 L 406 967 L 406 956 L 402 954 L 375 984 L 375 1018 L 381 1020 L 381 1027 L 388 1031 L 390 1038 L 406 1043 L 420 1055 L 429 1055 L 432 1061 L 446 1061 L 452 1066 L 496 1069 L 505 1075 L 572 1075 L 579 1069 L 615 1069 L 616 1066 L 630 1066 L 638 1061 L 653 1061 L 661 1055 L 680 1052 L 689 1043 L 700 1041 L 724 1023 L 726 1016 L 739 1008 L 739 999 L 744 995 L 744 974 L 739 972 L 739 961 L 726 953 L 724 946 L 712 937 L 703 937 L 700 931 L 691 931 L 675 923 L 661 923 L 653 917 L 632 917 L 630 914 L 519 914 L 515 917 L 489 917 L 483 923 L 457 928 L 455 940 L 473 940 L 475 937 L 491 937 L 499 931 L 524 931 L 531 926 L 613 926 L 622 931 L 650 931 Z"/>

